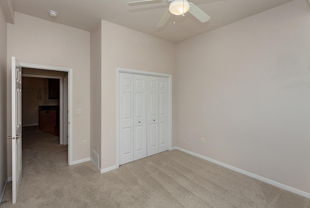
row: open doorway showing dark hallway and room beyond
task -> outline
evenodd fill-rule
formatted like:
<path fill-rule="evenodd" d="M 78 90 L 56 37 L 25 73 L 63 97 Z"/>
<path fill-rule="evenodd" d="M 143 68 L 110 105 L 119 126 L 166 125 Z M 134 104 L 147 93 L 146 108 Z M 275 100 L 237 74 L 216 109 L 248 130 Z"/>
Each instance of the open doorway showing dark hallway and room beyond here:
<path fill-rule="evenodd" d="M 68 72 L 22 68 L 23 175 L 68 165 Z"/>

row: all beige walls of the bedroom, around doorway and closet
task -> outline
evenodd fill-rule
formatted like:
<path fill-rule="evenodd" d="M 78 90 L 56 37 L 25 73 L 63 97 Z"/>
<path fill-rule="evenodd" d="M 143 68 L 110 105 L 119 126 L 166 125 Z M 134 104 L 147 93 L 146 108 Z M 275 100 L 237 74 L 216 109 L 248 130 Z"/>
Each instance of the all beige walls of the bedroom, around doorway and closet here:
<path fill-rule="evenodd" d="M 1 15 L 0 46 L 6 47 Z M 172 74 L 172 146 L 310 192 L 310 15 L 305 0 L 177 45 L 104 20 L 91 33 L 20 13 L 15 20 L 8 25 L 9 67 L 16 56 L 20 62 L 73 68 L 73 111 L 83 109 L 82 115 L 73 114 L 73 160 L 88 158 L 95 149 L 101 169 L 116 164 L 116 67 L 152 71 Z M 8 82 L 10 76 L 8 70 Z M 5 116 L 4 82 L 0 113 Z M 3 134 L 6 124 L 1 122 Z M 90 141 L 91 132 L 101 140 Z M 83 146 L 83 140 L 90 145 Z M 8 164 L 9 176 L 11 169 Z"/>

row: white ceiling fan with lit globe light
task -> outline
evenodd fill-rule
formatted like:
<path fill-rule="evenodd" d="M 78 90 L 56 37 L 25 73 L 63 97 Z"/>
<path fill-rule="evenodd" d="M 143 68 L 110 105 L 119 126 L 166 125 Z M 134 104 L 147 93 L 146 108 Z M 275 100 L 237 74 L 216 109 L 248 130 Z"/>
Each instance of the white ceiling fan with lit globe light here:
<path fill-rule="evenodd" d="M 171 15 L 184 16 L 186 12 L 189 12 L 190 14 L 195 16 L 202 23 L 210 19 L 210 16 L 205 14 L 195 4 L 188 2 L 187 0 L 140 0 L 140 1 L 129 2 L 128 6 L 136 6 L 136 5 L 150 4 L 150 3 L 161 3 L 161 2 L 170 2 L 170 5 L 165 15 L 159 21 L 157 27 L 165 26 L 169 18 L 171 17 Z"/>

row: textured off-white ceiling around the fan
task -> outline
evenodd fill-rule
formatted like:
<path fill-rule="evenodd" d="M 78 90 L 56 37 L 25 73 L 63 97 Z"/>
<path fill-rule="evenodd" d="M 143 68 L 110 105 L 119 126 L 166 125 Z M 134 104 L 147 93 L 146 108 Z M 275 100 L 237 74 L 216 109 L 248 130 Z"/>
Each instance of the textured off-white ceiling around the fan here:
<path fill-rule="evenodd" d="M 177 43 L 292 0 L 190 0 L 211 16 L 201 23 L 192 15 L 171 16 L 157 28 L 169 3 L 128 6 L 131 0 L 12 0 L 16 12 L 91 31 L 100 19 Z M 58 16 L 48 15 L 49 10 Z M 175 21 L 175 23 L 173 23 Z"/>

